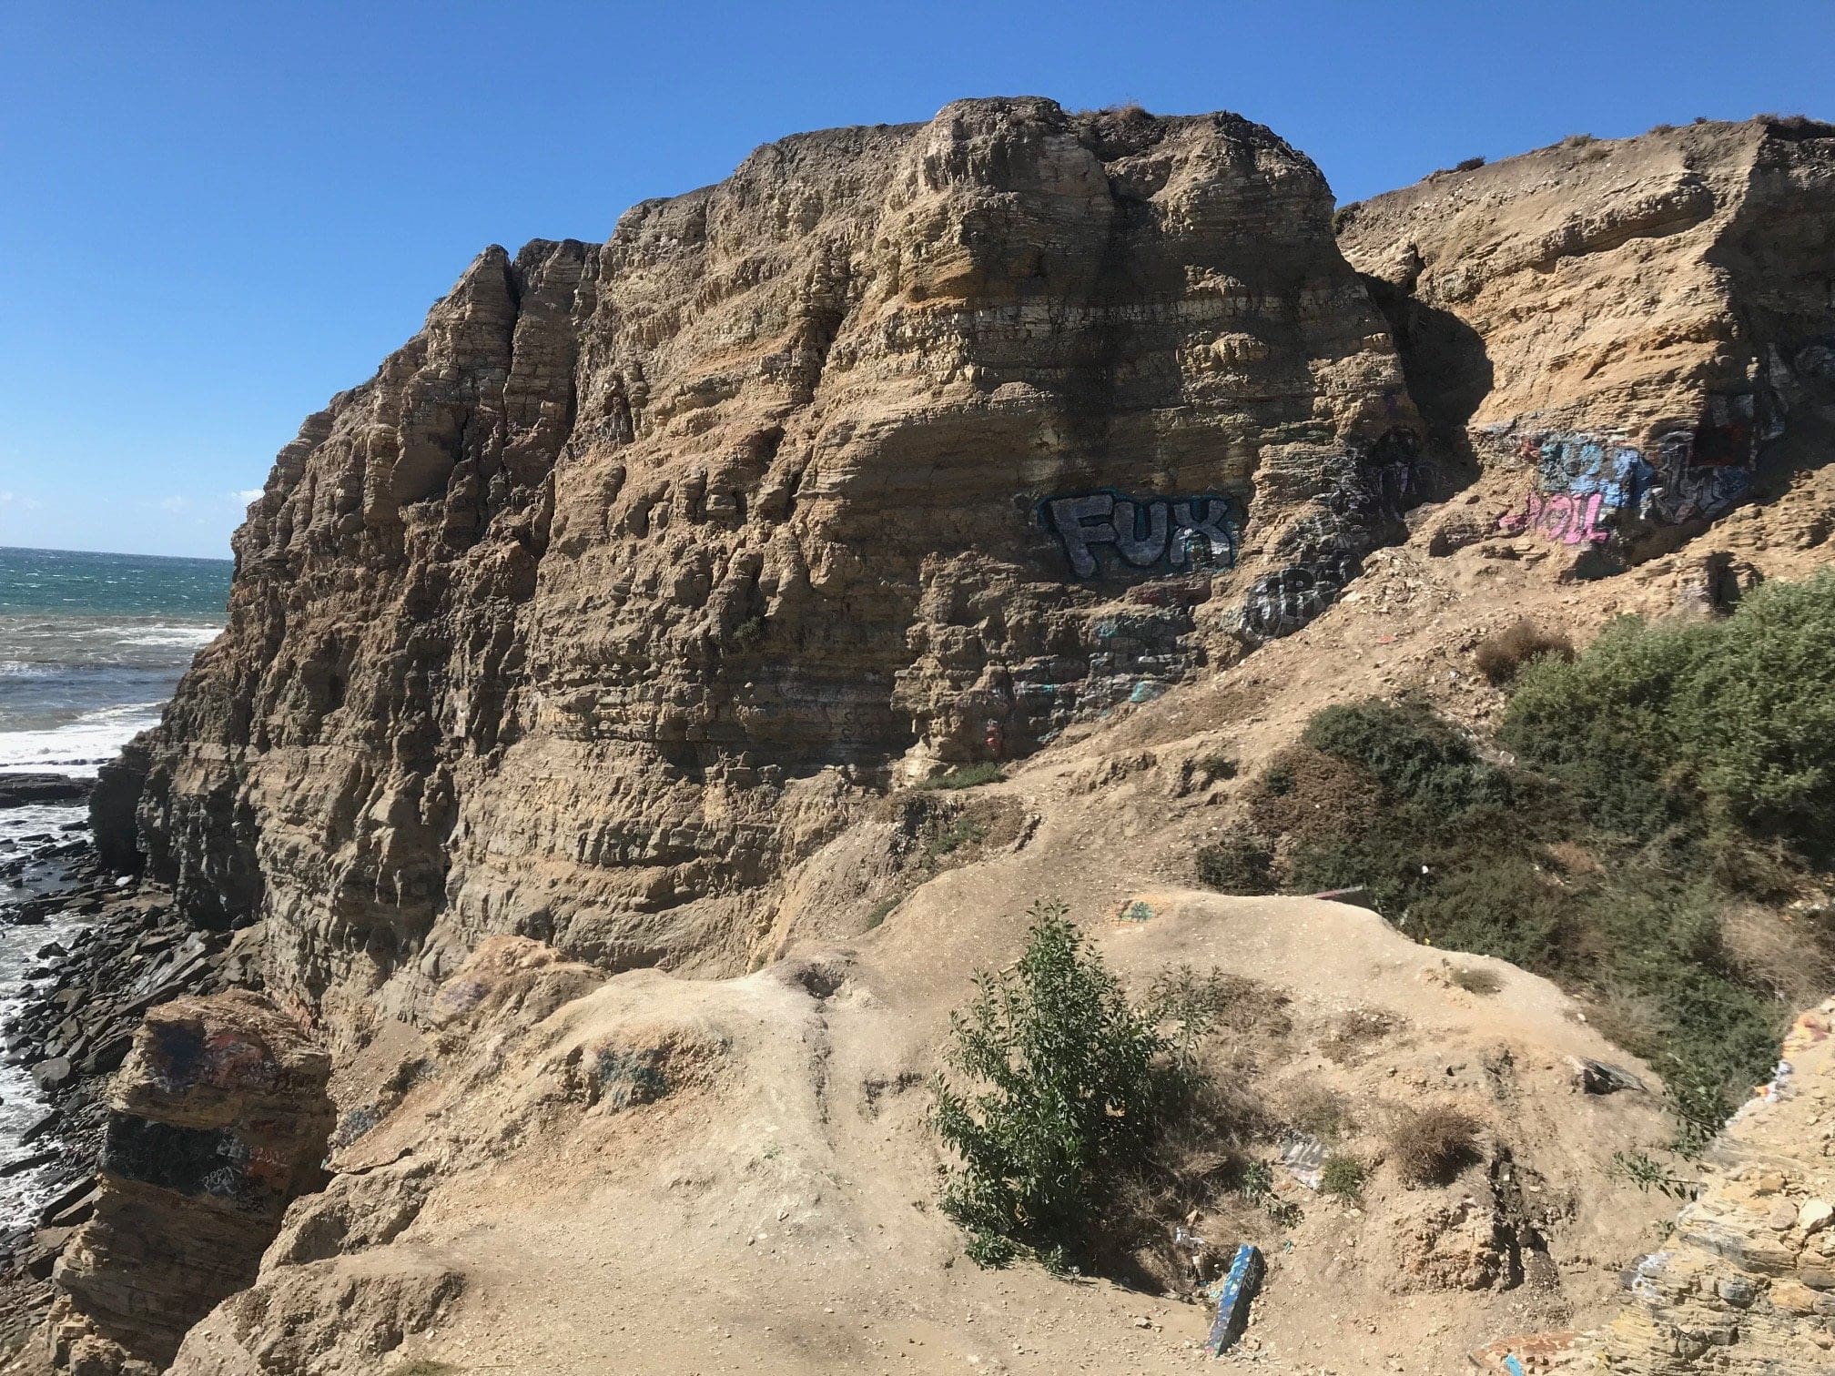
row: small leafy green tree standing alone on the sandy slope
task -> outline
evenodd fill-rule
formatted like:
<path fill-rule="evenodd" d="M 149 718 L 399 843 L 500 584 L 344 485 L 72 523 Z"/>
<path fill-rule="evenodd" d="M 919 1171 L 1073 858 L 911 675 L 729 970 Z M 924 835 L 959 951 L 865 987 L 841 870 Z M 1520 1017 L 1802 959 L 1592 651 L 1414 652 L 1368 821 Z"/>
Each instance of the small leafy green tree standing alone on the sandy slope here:
<path fill-rule="evenodd" d="M 1028 917 L 1026 954 L 978 974 L 974 1002 L 951 1016 L 947 1060 L 976 1088 L 936 1081 L 936 1132 L 960 1158 L 943 1213 L 982 1266 L 1026 1249 L 1064 1268 L 1088 1255 L 1180 1071 L 1064 904 Z"/>

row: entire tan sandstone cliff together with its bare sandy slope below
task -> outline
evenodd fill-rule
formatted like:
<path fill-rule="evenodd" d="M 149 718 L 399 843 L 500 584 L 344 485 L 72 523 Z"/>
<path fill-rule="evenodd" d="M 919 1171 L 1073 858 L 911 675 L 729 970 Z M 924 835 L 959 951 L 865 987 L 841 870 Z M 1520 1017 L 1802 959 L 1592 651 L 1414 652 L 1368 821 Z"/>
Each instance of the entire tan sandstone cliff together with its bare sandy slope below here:
<path fill-rule="evenodd" d="M 1325 703 L 1481 721 L 1507 620 L 1826 565 L 1831 176 L 1820 127 L 1574 143 L 1358 207 L 1347 262 L 1261 127 L 969 101 L 483 255 L 283 451 L 97 791 L 338 1051 L 332 1185 L 174 1369 L 1196 1359 L 1195 1306 L 951 1268 L 929 1213 L 906 1092 L 1046 893 L 1262 991 L 1220 1071 L 1281 1114 L 1486 1123 L 1264 1237 L 1281 1363 L 1602 1323 L 1666 1211 L 1613 1152 L 1668 1128 L 1573 1082 L 1582 1005 L 1176 882 Z"/>

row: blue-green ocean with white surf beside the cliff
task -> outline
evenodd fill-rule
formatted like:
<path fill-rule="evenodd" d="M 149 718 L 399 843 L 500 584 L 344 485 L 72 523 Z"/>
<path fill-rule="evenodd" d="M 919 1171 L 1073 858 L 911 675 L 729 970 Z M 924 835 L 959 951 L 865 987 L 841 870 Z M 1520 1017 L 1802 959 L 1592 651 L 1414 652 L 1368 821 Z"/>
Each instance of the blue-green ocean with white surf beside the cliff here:
<path fill-rule="evenodd" d="M 94 776 L 158 723 L 191 657 L 222 629 L 229 569 L 229 560 L 0 549 L 0 774 Z M 0 862 L 11 862 L 0 877 L 0 1022 L 20 1005 L 46 943 L 84 921 L 59 914 L 15 927 L 7 899 L 55 890 L 57 862 L 39 857 L 86 837 L 86 804 L 0 807 Z M 0 1059 L 0 1172 L 28 1154 L 18 1134 L 44 1108 L 26 1066 Z M 0 1220 L 13 1222 L 37 1174 L 0 1174 Z"/>

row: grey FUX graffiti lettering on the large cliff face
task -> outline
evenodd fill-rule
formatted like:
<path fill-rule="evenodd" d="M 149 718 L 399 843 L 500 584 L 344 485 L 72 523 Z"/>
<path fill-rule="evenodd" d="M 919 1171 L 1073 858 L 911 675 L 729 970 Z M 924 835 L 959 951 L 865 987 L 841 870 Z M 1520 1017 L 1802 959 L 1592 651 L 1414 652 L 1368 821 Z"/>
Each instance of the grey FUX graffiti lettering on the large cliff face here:
<path fill-rule="evenodd" d="M 1039 505 L 1077 578 L 1101 572 L 1097 550 L 1110 547 L 1125 567 L 1228 569 L 1237 561 L 1242 514 L 1233 497 L 1123 497 L 1086 492 Z"/>

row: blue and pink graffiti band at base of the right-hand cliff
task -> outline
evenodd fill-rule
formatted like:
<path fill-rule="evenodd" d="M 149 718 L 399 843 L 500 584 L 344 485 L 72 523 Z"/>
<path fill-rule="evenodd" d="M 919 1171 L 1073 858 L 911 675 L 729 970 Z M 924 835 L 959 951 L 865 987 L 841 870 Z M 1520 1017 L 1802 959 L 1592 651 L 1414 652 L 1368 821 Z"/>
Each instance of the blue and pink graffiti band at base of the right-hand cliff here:
<path fill-rule="evenodd" d="M 1712 519 L 1751 492 L 1758 446 L 1776 433 L 1762 422 L 1758 398 L 1745 394 L 1710 396 L 1697 422 L 1659 431 L 1650 446 L 1655 462 L 1622 435 L 1525 435 L 1518 455 L 1536 475 L 1523 505 L 1497 517 L 1497 528 L 1604 545 L 1637 521 Z"/>

